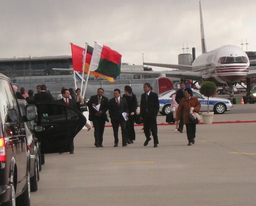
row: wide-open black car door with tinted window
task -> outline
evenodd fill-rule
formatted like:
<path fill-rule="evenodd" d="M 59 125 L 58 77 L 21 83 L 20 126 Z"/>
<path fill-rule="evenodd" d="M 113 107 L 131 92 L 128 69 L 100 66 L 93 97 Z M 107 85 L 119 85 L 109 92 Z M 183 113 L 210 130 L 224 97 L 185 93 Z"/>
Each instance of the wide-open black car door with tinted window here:
<path fill-rule="evenodd" d="M 36 104 L 37 125 L 43 127 L 37 132 L 41 153 L 68 152 L 70 143 L 82 127 L 86 118 L 81 112 L 58 102 Z"/>

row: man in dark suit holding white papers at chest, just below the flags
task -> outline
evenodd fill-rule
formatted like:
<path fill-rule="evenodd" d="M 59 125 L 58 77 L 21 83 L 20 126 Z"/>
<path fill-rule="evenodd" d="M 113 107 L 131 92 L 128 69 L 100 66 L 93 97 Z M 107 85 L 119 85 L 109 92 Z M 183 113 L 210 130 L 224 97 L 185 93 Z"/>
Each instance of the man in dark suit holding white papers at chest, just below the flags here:
<path fill-rule="evenodd" d="M 106 111 L 109 109 L 109 99 L 103 96 L 103 93 L 104 90 L 102 88 L 98 88 L 97 95 L 91 96 L 90 100 L 87 102 L 87 106 L 89 107 L 89 120 L 93 122 L 94 126 L 94 145 L 96 147 L 103 147 L 102 142 L 105 122 L 109 121 L 106 116 Z M 99 111 L 97 111 L 94 107 L 99 104 Z"/>

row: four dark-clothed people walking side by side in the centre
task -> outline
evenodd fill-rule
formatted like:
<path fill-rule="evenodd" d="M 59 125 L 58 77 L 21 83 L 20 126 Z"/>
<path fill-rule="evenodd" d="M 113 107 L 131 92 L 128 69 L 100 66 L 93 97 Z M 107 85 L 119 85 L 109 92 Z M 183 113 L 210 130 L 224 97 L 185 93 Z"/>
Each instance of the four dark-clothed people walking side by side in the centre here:
<path fill-rule="evenodd" d="M 154 138 L 154 147 L 158 145 L 157 136 L 157 113 L 159 111 L 158 95 L 152 92 L 150 84 L 145 83 L 143 86 L 144 94 L 141 95 L 140 116 L 144 123 L 144 133 L 146 140 L 144 146 L 151 140 L 151 133 Z M 118 130 L 121 127 L 122 146 L 134 143 L 136 134 L 134 123 L 138 118 L 136 110 L 138 101 L 133 93 L 131 86 L 124 87 L 124 94 L 121 96 L 120 89 L 115 89 L 113 98 L 108 99 L 103 96 L 104 89 L 98 88 L 97 94 L 90 97 L 87 105 L 89 107 L 89 120 L 94 125 L 95 146 L 103 147 L 103 133 L 105 122 L 109 121 L 106 111 L 109 111 L 111 124 L 114 133 L 114 147 L 118 147 L 119 138 Z"/>

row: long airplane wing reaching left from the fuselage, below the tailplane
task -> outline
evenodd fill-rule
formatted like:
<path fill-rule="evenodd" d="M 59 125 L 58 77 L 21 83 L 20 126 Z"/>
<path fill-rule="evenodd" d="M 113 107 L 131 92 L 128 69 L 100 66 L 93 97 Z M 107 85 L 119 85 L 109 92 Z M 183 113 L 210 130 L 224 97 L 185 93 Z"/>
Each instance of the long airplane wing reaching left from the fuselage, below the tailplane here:
<path fill-rule="evenodd" d="M 202 81 L 202 74 L 195 71 L 121 71 L 121 73 L 129 74 L 159 74 L 164 76 L 172 76 L 175 78 Z"/>

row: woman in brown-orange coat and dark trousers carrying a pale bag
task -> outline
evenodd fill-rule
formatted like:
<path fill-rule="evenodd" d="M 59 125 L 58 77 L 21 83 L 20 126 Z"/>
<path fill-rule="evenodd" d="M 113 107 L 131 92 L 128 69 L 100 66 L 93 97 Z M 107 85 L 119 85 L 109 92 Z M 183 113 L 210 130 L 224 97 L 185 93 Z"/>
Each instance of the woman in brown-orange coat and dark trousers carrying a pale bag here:
<path fill-rule="evenodd" d="M 196 123 L 189 121 L 190 108 L 194 108 L 193 112 L 199 112 L 201 105 L 197 97 L 193 96 L 193 91 L 189 88 L 184 90 L 184 98 L 181 99 L 176 118 L 180 120 L 181 115 L 183 117 L 184 124 L 186 124 L 188 146 L 195 144 L 196 137 Z"/>

